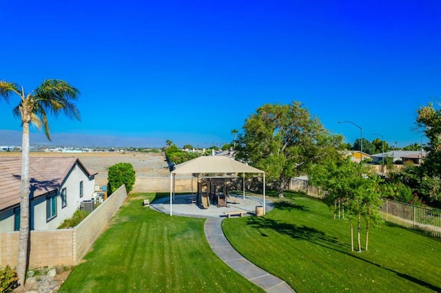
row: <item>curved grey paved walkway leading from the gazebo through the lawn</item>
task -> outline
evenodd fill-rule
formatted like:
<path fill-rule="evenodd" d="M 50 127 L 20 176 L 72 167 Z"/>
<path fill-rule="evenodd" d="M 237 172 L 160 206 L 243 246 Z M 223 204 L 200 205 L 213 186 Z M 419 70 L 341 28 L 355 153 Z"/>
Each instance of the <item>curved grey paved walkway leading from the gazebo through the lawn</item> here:
<path fill-rule="evenodd" d="M 262 287 L 266 292 L 284 293 L 294 292 L 289 285 L 278 279 L 276 276 L 258 268 L 249 260 L 245 259 L 231 246 L 222 230 L 223 217 L 207 218 L 205 220 L 205 237 L 207 237 L 209 246 L 214 253 L 222 259 L 230 268 L 252 281 L 254 284 Z"/>

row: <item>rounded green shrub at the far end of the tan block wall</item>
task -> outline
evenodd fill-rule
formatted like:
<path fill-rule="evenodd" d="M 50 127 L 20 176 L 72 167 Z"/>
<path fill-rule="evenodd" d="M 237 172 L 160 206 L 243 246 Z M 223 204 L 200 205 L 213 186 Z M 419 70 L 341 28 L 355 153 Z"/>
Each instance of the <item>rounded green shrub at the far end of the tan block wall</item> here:
<path fill-rule="evenodd" d="M 132 191 L 136 173 L 130 163 L 119 163 L 111 166 L 107 172 L 107 193 L 111 195 L 121 185 L 125 184 L 127 193 Z"/>

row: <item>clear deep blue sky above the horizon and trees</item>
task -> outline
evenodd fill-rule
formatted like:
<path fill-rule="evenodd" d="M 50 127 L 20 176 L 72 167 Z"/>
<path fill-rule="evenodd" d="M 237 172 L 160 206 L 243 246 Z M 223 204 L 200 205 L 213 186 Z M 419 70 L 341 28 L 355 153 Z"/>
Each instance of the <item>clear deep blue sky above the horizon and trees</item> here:
<path fill-rule="evenodd" d="M 81 122 L 50 118 L 53 134 L 223 144 L 298 100 L 347 142 L 360 130 L 339 120 L 406 146 L 441 97 L 440 1 L 3 0 L 0 25 L 0 79 L 81 91 Z M 0 129 L 20 130 L 14 101 Z"/>

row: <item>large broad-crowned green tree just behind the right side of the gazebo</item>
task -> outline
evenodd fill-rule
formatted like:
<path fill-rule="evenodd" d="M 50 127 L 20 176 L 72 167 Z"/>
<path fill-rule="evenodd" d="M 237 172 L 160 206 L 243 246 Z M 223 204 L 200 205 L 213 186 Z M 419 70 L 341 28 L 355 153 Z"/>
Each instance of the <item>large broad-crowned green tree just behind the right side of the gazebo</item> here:
<path fill-rule="evenodd" d="M 301 102 L 259 107 L 238 135 L 236 158 L 265 171 L 276 182 L 279 197 L 289 180 L 305 175 L 309 168 L 338 157 L 340 135 L 331 135 Z"/>

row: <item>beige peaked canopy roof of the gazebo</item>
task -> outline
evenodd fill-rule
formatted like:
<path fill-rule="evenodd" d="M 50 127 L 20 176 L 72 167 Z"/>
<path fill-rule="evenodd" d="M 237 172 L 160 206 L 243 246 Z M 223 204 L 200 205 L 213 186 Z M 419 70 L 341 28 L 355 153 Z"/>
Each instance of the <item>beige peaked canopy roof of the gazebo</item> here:
<path fill-rule="evenodd" d="M 201 156 L 175 166 L 172 174 L 185 173 L 265 173 L 227 157 Z"/>

